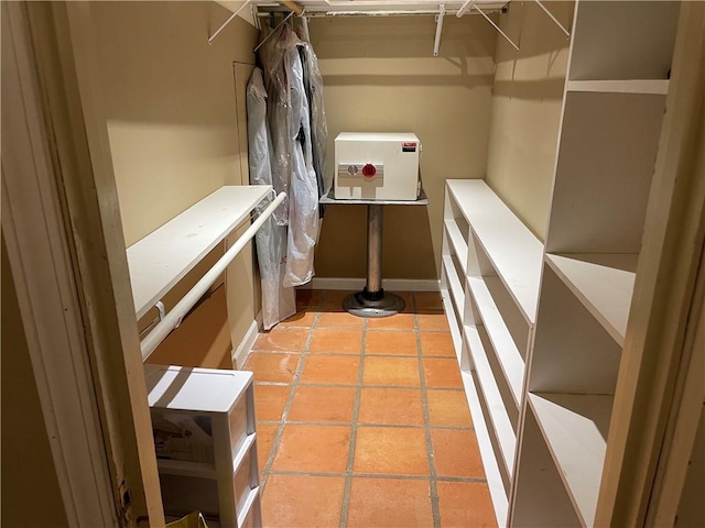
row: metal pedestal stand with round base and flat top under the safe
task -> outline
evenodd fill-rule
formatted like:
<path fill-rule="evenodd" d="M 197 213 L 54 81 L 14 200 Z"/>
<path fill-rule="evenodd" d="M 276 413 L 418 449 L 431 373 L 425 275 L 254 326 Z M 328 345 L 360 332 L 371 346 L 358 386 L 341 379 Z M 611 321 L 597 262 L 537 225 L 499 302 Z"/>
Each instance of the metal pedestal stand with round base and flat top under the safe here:
<path fill-rule="evenodd" d="M 349 204 L 367 206 L 367 285 L 362 292 L 348 295 L 343 300 L 343 308 L 358 317 L 389 317 L 405 308 L 404 299 L 382 289 L 382 219 L 383 207 L 394 206 L 425 206 L 429 199 L 421 189 L 414 201 L 379 201 L 379 200 L 336 200 L 333 191 L 321 198 L 321 204 Z"/>

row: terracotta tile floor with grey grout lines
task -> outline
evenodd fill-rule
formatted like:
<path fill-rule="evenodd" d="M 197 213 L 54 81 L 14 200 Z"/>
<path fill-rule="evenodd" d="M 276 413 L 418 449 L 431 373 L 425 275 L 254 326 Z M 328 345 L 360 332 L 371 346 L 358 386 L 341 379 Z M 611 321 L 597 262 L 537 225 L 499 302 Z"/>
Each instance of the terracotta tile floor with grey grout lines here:
<path fill-rule="evenodd" d="M 441 297 L 361 319 L 346 295 L 297 292 L 243 366 L 264 527 L 496 526 Z"/>

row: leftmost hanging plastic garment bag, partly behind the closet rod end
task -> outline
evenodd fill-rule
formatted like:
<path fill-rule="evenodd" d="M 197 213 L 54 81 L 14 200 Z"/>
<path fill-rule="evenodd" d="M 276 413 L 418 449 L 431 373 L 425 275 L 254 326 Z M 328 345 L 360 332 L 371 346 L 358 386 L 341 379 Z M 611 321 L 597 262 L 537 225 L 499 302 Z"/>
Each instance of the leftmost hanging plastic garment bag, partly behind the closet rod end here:
<path fill-rule="evenodd" d="M 250 184 L 272 185 L 271 145 L 267 128 L 267 91 L 262 70 L 254 68 L 247 86 Z M 262 212 L 267 206 L 257 208 Z M 269 330 L 296 312 L 294 288 L 284 287 L 286 227 L 270 217 L 254 235 L 262 285 L 262 322 Z"/>

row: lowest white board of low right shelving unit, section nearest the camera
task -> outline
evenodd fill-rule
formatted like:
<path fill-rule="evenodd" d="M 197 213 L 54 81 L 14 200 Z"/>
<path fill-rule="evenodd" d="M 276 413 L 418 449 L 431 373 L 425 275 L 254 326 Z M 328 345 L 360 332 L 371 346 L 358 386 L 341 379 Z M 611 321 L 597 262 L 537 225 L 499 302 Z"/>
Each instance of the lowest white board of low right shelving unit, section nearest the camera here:
<path fill-rule="evenodd" d="M 477 391 L 475 389 L 473 374 L 467 371 L 462 371 L 460 376 L 463 378 L 463 386 L 465 387 L 467 404 L 470 408 L 470 414 L 473 415 L 473 427 L 475 428 L 475 436 L 477 438 L 477 444 L 482 459 L 482 468 L 485 469 L 487 486 L 489 487 L 492 506 L 495 507 L 497 525 L 500 528 L 506 527 L 509 501 L 499 472 L 499 466 L 497 465 L 497 458 L 495 457 L 492 442 L 489 438 L 485 420 L 482 419 L 482 407 L 480 406 L 480 400 L 477 395 Z"/>

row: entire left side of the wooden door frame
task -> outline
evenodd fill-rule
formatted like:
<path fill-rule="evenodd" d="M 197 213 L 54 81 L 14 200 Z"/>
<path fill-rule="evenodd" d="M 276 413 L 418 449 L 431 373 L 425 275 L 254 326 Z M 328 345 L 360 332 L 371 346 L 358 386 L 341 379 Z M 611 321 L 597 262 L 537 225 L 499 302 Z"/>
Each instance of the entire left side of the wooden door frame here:
<path fill-rule="evenodd" d="M 89 3 L 1 2 L 2 232 L 69 526 L 162 526 Z"/>

